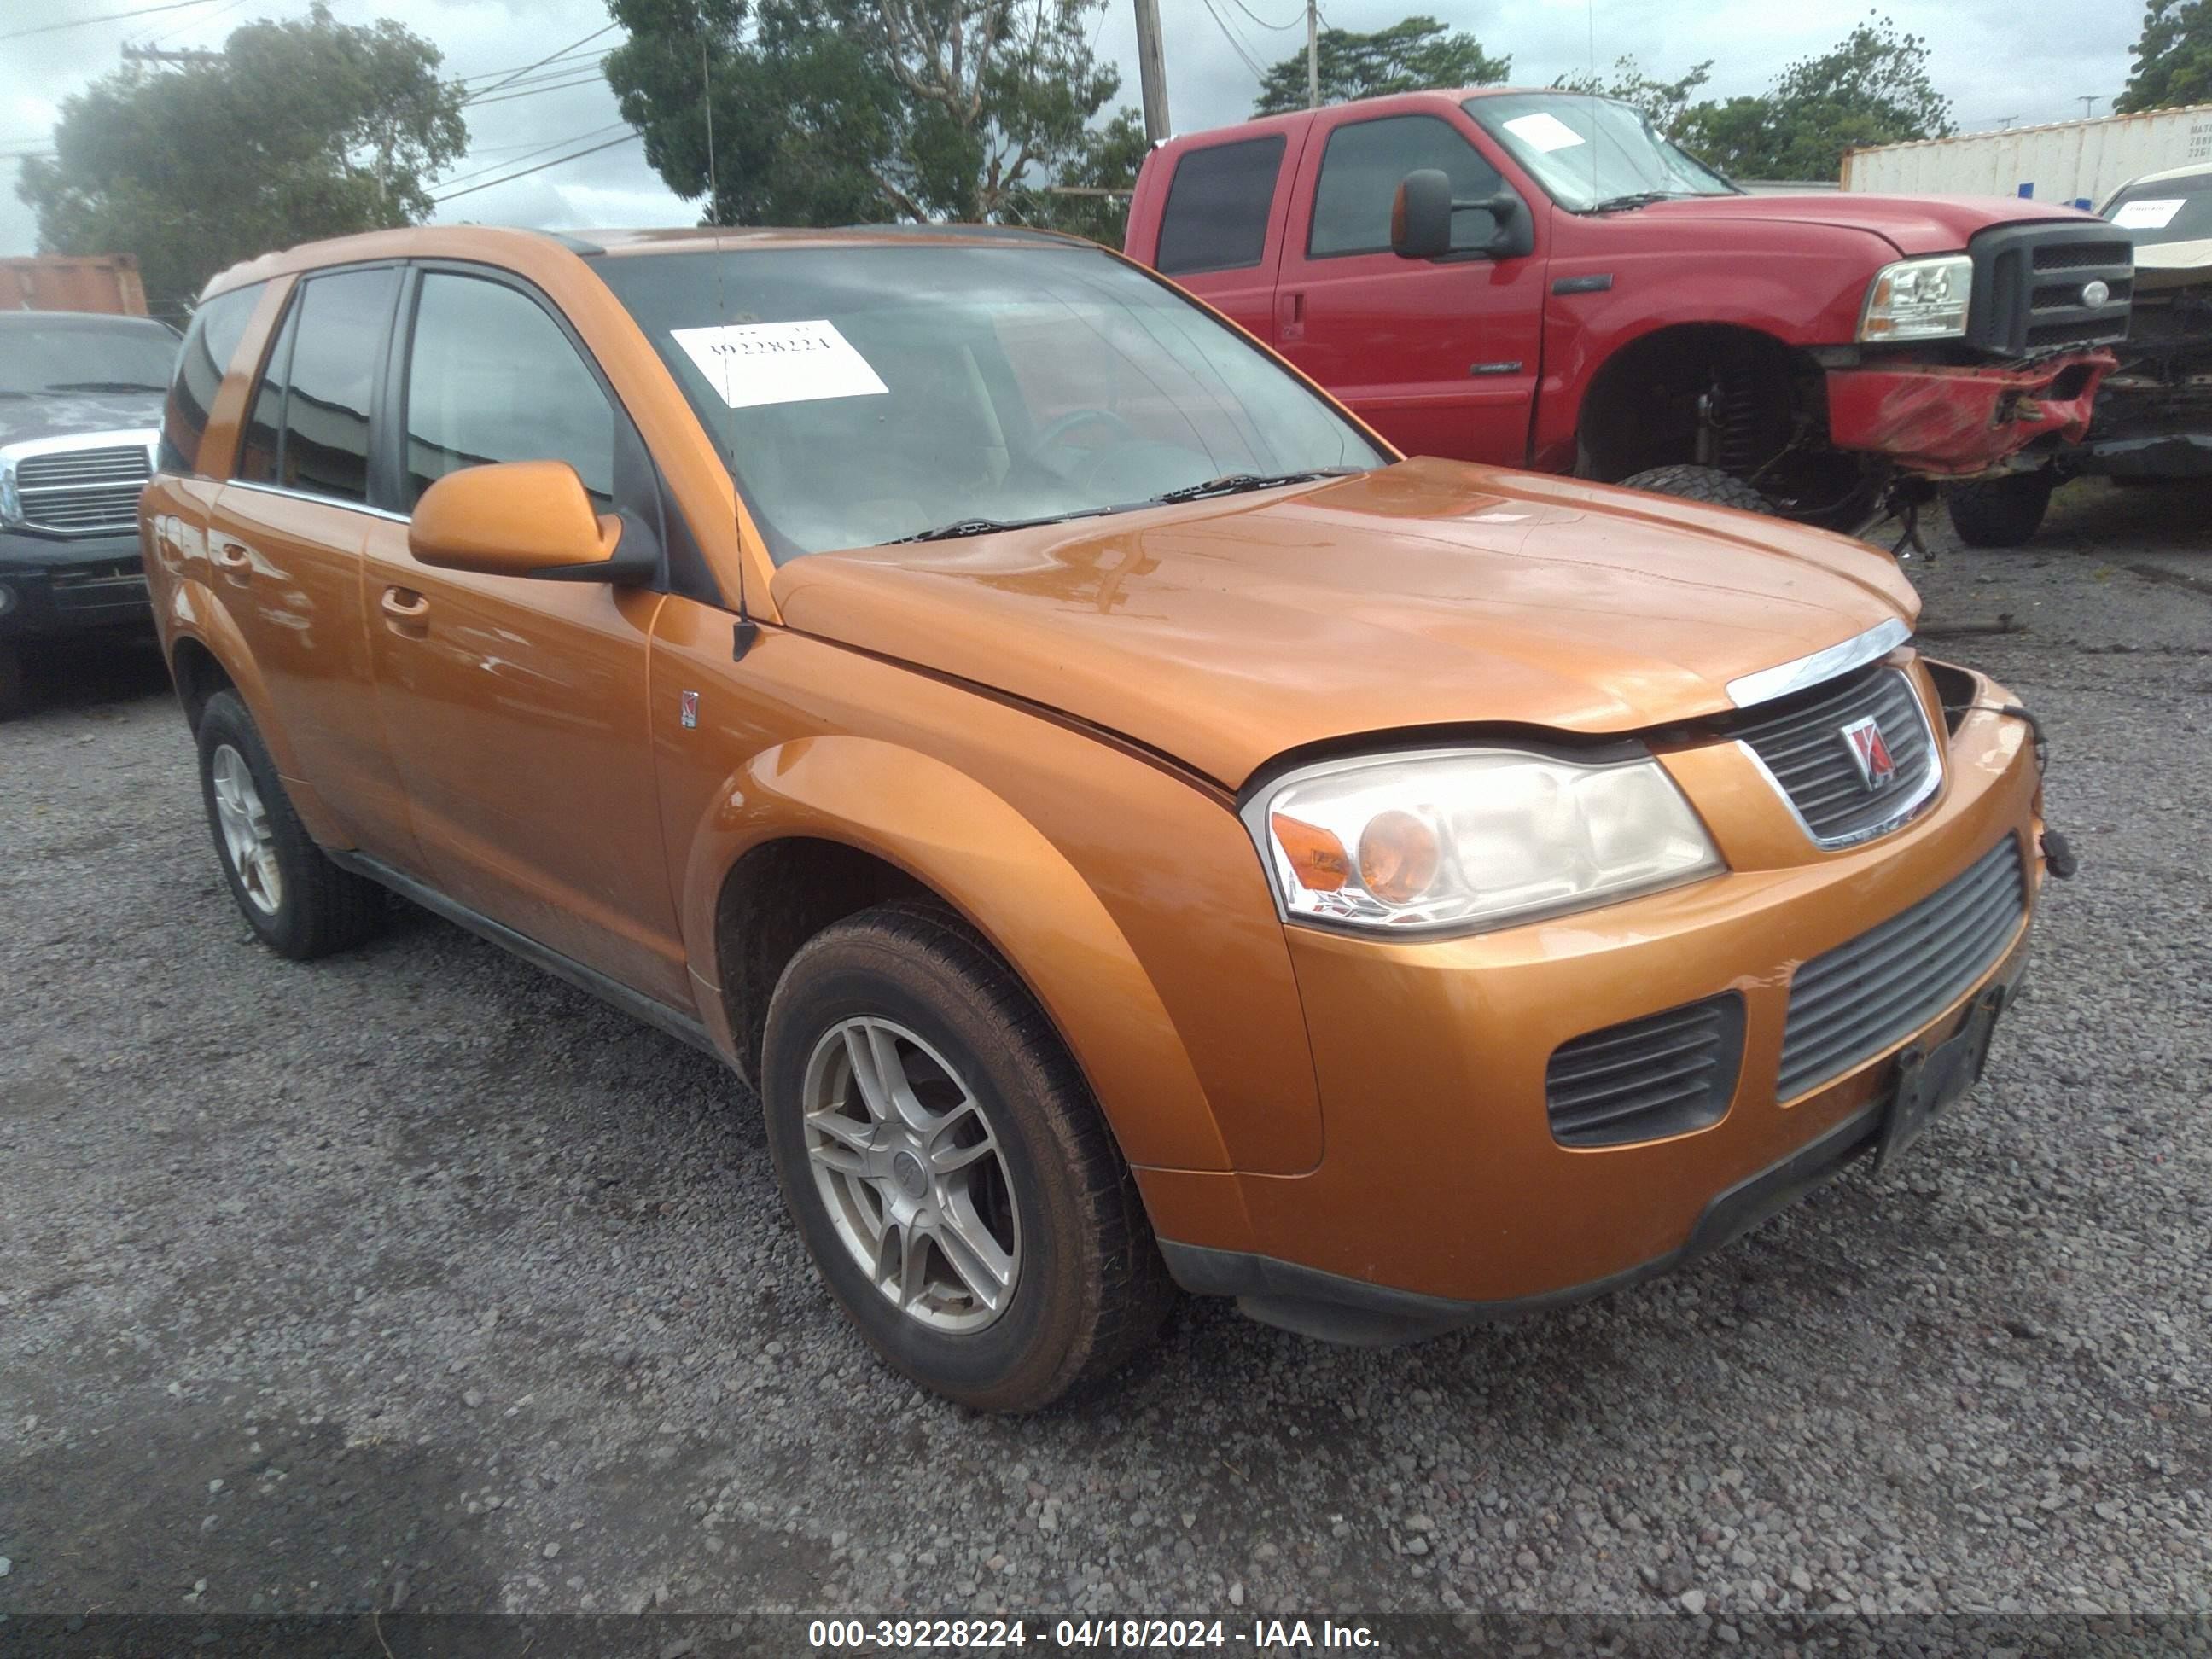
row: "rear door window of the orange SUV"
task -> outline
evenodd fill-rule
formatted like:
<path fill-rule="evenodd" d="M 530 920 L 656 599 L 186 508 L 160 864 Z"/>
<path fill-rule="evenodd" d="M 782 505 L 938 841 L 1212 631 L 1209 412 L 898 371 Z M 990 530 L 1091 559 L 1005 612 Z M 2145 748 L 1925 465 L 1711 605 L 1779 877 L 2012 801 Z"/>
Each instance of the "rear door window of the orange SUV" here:
<path fill-rule="evenodd" d="M 338 502 L 369 498 L 369 407 L 398 281 L 392 265 L 341 270 L 310 276 L 292 296 L 290 341 L 279 341 L 290 361 L 274 465 L 274 482 L 285 489 Z M 268 385 L 254 396 L 248 447 L 268 407 L 265 392 Z"/>

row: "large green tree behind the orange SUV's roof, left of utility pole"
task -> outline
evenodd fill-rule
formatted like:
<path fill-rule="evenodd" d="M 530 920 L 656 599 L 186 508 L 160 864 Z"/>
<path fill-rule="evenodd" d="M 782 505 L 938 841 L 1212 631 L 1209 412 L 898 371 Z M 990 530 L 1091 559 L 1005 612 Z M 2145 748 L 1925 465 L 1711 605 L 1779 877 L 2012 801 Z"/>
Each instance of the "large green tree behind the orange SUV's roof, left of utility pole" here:
<path fill-rule="evenodd" d="M 611 0 L 630 40 L 606 80 L 710 223 L 1033 221 L 1042 186 L 1110 173 L 1104 4 Z"/>

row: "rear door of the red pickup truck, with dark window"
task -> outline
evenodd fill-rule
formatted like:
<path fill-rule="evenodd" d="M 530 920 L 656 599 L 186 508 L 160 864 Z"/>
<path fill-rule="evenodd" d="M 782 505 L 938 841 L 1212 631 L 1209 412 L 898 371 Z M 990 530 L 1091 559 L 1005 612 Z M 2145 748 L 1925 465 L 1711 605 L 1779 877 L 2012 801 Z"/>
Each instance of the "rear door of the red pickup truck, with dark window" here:
<path fill-rule="evenodd" d="M 1197 144 L 1175 157 L 1150 265 L 1267 341 L 1290 179 L 1305 128 Z"/>

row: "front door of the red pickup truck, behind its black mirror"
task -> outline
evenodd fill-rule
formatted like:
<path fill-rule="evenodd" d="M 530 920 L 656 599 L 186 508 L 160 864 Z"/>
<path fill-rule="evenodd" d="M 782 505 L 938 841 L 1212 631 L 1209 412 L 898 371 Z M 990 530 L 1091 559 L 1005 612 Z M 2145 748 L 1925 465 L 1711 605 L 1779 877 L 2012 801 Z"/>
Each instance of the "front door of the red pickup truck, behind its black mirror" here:
<path fill-rule="evenodd" d="M 1274 296 L 1276 349 L 1409 456 L 1520 467 L 1542 367 L 1551 204 L 1522 192 L 1535 217 L 1535 252 L 1522 259 L 1398 259 L 1389 215 L 1407 173 L 1442 168 L 1460 199 L 1509 184 L 1471 126 L 1371 108 L 1323 111 L 1305 142 Z M 1491 230 L 1489 215 L 1458 215 L 1469 248 Z"/>

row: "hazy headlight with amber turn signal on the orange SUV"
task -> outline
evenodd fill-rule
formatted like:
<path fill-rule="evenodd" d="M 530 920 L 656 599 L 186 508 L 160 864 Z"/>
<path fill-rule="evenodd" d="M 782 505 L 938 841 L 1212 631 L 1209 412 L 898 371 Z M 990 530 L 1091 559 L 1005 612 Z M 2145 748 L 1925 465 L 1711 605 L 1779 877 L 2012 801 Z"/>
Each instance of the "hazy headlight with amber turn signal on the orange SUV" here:
<path fill-rule="evenodd" d="M 1522 750 L 1327 761 L 1245 805 L 1287 916 L 1480 931 L 1721 869 L 1652 759 L 1584 765 Z"/>

